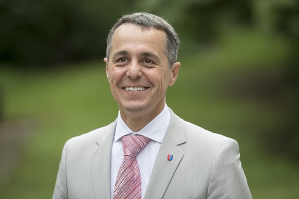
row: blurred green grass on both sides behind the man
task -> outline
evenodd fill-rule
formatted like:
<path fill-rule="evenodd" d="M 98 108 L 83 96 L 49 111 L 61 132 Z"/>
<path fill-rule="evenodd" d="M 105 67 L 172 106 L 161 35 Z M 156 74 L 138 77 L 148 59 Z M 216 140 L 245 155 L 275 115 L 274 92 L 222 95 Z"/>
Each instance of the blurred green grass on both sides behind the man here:
<path fill-rule="evenodd" d="M 230 48 L 234 47 L 225 53 Z M 263 133 L 278 125 L 277 110 L 264 101 L 230 95 L 223 85 L 239 79 L 239 72 L 249 71 L 249 66 L 238 68 L 239 61 L 230 65 L 221 57 L 221 53 L 213 58 L 182 56 L 178 81 L 167 91 L 167 105 L 185 120 L 238 141 L 253 198 L 298 198 L 298 163 L 266 150 L 269 143 L 260 140 Z M 33 121 L 28 124 L 27 138 L 7 141 L 11 148 L 20 150 L 11 174 L 1 173 L 5 176 L 0 177 L 2 197 L 50 198 L 66 140 L 117 117 L 104 64 L 83 63 L 48 71 L 2 67 L 0 83 L 5 120 Z M 19 135 L 24 132 L 12 133 L 22 137 Z"/>

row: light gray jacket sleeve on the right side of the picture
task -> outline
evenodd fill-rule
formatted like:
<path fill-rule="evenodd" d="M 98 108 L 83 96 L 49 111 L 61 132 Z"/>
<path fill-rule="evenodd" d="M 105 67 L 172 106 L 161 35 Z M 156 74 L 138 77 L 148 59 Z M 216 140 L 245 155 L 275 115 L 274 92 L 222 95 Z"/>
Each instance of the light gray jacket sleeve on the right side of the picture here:
<path fill-rule="evenodd" d="M 223 143 L 215 157 L 207 198 L 252 199 L 235 140 Z"/>

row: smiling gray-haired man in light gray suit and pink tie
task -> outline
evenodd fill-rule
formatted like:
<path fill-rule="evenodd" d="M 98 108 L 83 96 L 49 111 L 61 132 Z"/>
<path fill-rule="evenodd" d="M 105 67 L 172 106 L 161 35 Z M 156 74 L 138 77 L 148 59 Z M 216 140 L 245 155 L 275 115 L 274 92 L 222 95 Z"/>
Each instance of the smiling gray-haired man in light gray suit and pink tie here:
<path fill-rule="evenodd" d="M 172 26 L 156 15 L 119 19 L 104 58 L 118 118 L 67 141 L 53 198 L 251 198 L 237 142 L 166 105 L 178 47 Z"/>

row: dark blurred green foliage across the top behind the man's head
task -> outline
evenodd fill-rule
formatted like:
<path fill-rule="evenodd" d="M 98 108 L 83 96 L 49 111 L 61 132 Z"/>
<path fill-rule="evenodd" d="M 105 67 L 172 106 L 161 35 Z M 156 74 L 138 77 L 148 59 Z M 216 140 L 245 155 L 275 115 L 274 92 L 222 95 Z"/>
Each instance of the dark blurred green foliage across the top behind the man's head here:
<path fill-rule="evenodd" d="M 238 27 L 279 33 L 290 44 L 298 44 L 298 4 L 297 0 L 1 1 L 0 60 L 44 67 L 103 57 L 110 27 L 121 15 L 135 11 L 163 16 L 181 39 L 193 44 L 215 45 L 223 33 Z"/>

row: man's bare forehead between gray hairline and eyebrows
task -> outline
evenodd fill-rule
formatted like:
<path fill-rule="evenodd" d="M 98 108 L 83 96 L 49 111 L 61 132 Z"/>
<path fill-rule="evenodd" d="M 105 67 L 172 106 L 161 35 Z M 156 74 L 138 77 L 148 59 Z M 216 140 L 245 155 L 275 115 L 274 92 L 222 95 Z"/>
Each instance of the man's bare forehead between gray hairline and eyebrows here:
<path fill-rule="evenodd" d="M 166 35 L 155 28 L 142 28 L 135 24 L 125 23 L 119 26 L 112 39 L 113 51 L 149 50 L 156 53 L 164 52 Z"/>

